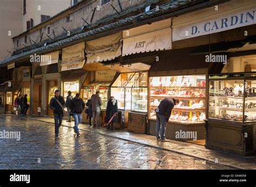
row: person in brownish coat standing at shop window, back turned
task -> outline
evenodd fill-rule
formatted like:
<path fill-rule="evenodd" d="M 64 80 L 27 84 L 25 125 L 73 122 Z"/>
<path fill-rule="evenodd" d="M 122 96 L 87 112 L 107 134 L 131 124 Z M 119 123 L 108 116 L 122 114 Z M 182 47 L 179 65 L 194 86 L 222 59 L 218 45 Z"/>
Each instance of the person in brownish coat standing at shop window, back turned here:
<path fill-rule="evenodd" d="M 91 98 L 92 103 L 92 124 L 93 127 L 99 127 L 99 116 L 100 116 L 100 106 L 102 105 L 102 98 L 99 97 L 99 91 Z"/>

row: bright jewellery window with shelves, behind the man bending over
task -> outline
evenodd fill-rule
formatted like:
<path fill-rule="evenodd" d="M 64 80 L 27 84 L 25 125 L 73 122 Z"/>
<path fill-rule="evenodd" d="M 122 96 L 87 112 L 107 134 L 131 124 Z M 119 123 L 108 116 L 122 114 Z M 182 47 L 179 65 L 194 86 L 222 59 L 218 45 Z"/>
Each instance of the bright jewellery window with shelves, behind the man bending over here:
<path fill-rule="evenodd" d="M 180 100 L 174 106 L 169 121 L 176 123 L 204 123 L 206 112 L 206 76 L 166 76 L 150 78 L 150 119 L 156 119 L 154 111 L 165 97 Z"/>

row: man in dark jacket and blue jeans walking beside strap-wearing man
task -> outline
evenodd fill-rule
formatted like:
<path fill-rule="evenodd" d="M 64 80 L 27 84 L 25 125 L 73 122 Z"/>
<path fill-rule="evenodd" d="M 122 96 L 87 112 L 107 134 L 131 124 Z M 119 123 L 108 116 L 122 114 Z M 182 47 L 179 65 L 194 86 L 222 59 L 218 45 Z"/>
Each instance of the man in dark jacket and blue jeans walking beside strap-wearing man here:
<path fill-rule="evenodd" d="M 75 119 L 75 126 L 73 127 L 73 129 L 77 135 L 80 135 L 78 130 L 78 124 L 82 123 L 82 112 L 84 110 L 85 103 L 83 99 L 80 98 L 79 93 L 76 93 L 76 96 L 71 100 L 69 107 L 71 112 L 73 112 L 73 117 Z"/>

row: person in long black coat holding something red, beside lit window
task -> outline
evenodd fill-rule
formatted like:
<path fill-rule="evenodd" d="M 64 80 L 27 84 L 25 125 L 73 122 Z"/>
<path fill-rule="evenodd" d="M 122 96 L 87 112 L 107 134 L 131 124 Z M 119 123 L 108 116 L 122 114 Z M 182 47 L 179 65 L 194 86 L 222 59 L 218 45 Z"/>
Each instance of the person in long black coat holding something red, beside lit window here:
<path fill-rule="evenodd" d="M 117 99 L 111 96 L 107 101 L 106 106 L 106 121 L 107 129 L 113 129 L 113 124 L 116 122 L 116 114 L 118 112 Z"/>

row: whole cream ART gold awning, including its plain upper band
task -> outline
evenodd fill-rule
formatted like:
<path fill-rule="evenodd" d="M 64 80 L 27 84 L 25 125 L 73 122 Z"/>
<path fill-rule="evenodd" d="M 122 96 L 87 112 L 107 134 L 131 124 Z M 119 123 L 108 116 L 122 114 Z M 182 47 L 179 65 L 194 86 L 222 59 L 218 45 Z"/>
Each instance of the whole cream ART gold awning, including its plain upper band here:
<path fill-rule="evenodd" d="M 123 31 L 122 56 L 172 48 L 171 19 Z"/>

